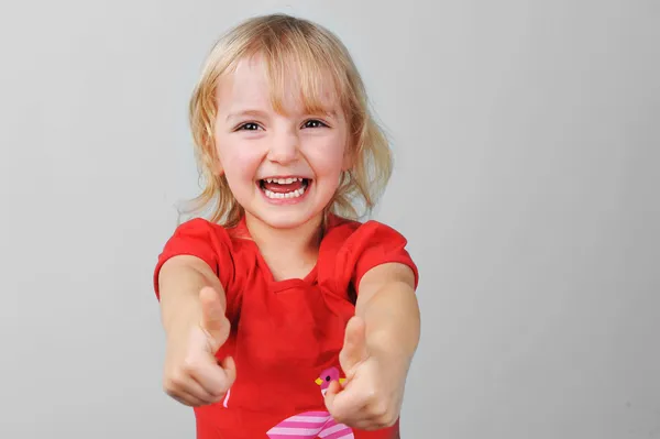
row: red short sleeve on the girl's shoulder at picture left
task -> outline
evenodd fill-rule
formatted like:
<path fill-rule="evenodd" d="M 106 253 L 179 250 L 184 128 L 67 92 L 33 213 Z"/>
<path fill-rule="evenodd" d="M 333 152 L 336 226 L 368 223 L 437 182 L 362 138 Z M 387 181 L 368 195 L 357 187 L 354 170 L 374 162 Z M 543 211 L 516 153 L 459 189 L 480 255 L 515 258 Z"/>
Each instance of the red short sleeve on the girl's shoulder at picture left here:
<path fill-rule="evenodd" d="M 206 262 L 216 273 L 224 292 L 233 278 L 231 240 L 227 231 L 205 219 L 195 218 L 178 226 L 157 257 L 153 275 L 154 292 L 160 299 L 158 274 L 163 264 L 177 255 L 193 255 Z"/>

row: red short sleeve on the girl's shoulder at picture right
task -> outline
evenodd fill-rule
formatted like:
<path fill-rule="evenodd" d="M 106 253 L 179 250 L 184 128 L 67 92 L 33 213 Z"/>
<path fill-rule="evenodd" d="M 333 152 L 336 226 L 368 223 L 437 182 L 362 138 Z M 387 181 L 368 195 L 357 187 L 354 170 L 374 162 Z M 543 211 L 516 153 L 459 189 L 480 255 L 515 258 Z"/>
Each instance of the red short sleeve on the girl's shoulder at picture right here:
<path fill-rule="evenodd" d="M 355 288 L 362 276 L 371 268 L 391 262 L 398 262 L 413 270 L 415 288 L 419 282 L 417 265 L 406 250 L 408 241 L 398 231 L 377 221 L 360 226 L 348 240 L 348 252 L 352 264 L 351 283 Z"/>

